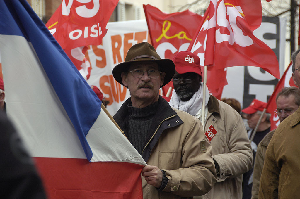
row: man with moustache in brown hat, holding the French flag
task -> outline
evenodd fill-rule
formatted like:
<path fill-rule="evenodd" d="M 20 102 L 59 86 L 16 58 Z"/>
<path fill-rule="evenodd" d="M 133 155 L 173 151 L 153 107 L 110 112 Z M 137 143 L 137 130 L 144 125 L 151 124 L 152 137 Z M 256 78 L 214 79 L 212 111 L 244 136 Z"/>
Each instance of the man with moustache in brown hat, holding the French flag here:
<path fill-rule="evenodd" d="M 133 45 L 125 62 L 113 69 L 131 95 L 114 119 L 148 164 L 142 170 L 144 199 L 200 196 L 216 181 L 201 122 L 172 109 L 159 95 L 174 72 L 173 61 L 161 59 L 147 42 Z"/>

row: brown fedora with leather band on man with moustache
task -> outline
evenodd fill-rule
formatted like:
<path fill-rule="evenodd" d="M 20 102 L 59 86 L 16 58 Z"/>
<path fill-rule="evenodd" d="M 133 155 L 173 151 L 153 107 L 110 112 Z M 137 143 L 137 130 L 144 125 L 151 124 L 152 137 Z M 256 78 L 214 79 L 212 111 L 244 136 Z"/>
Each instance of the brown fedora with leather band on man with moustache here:
<path fill-rule="evenodd" d="M 127 72 L 130 63 L 138 61 L 158 63 L 161 72 L 166 73 L 164 84 L 161 87 L 169 83 L 175 74 L 175 65 L 172 60 L 161 59 L 151 44 L 148 42 L 142 42 L 131 46 L 127 52 L 125 61 L 123 63 L 119 63 L 113 68 L 113 77 L 117 80 L 117 82 L 123 85 L 121 77 L 122 72 Z"/>

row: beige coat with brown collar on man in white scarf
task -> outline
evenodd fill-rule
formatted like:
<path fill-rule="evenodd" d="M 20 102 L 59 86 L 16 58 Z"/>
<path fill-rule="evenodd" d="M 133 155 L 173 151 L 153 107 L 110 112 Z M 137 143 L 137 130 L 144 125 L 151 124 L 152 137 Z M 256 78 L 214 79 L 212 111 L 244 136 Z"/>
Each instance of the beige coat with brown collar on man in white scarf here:
<path fill-rule="evenodd" d="M 202 199 L 242 198 L 242 174 L 253 165 L 253 152 L 243 120 L 228 104 L 210 96 L 205 131 L 217 130 L 211 140 L 214 160 L 220 166 L 217 183 Z"/>

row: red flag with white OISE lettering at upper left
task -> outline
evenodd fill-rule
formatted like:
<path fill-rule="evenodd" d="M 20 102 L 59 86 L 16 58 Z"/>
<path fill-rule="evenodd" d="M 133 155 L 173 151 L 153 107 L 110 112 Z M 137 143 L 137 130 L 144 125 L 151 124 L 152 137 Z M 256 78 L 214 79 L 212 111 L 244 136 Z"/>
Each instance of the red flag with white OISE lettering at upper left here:
<path fill-rule="evenodd" d="M 58 20 L 56 34 L 53 36 L 64 50 L 100 45 L 107 32 L 107 22 L 118 1 L 63 0 L 55 11 L 58 12 Z"/>

